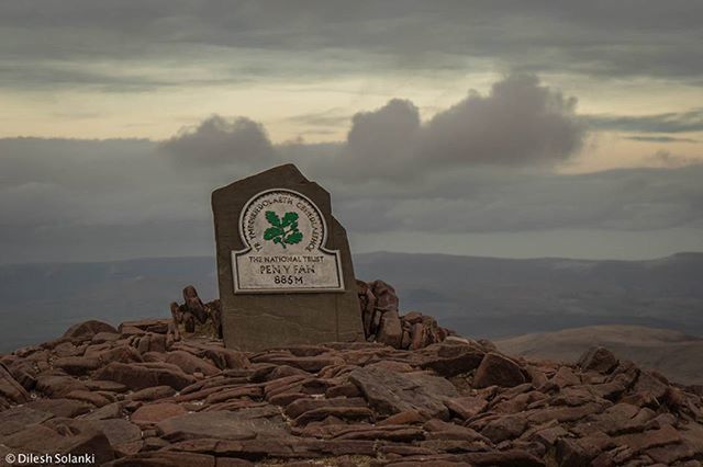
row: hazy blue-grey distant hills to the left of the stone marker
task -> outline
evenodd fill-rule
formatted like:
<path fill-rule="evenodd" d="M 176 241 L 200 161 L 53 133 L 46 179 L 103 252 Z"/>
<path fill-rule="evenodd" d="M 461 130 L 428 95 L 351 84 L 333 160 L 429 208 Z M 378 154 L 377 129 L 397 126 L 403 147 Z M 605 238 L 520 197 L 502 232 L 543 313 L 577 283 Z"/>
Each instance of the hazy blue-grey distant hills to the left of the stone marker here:
<path fill-rule="evenodd" d="M 0 352 L 51 340 L 86 319 L 170 316 L 192 284 L 216 296 L 213 258 L 0 265 Z"/>

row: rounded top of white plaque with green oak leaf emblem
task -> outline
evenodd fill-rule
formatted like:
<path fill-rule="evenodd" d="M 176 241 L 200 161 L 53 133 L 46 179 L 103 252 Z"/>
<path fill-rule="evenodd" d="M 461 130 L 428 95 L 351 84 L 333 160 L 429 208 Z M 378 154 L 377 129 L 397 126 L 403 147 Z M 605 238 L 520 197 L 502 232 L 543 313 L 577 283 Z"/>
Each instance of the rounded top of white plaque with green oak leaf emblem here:
<path fill-rule="evenodd" d="M 270 190 L 253 197 L 242 212 L 244 242 L 260 253 L 312 252 L 325 242 L 325 223 L 306 196 Z"/>

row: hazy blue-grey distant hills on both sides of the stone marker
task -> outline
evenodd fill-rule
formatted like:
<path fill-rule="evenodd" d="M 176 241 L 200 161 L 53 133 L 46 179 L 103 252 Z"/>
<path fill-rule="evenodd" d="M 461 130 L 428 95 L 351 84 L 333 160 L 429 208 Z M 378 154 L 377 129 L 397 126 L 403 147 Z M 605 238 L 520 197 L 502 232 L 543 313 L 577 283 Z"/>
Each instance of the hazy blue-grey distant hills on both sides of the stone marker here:
<path fill-rule="evenodd" d="M 471 337 L 592 324 L 638 324 L 703 335 L 703 253 L 654 261 L 506 260 L 368 253 L 356 275 L 392 284 L 404 311 Z M 168 316 L 193 284 L 216 295 L 212 258 L 0 265 L 0 352 L 59 335 L 74 322 Z"/>

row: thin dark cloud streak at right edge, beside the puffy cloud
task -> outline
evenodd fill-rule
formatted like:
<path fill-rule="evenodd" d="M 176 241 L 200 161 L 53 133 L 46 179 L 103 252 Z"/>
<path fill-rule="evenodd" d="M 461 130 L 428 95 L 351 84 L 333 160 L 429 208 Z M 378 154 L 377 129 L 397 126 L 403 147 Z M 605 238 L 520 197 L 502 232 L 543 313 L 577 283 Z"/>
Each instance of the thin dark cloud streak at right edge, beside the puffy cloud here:
<path fill-rule="evenodd" d="M 654 115 L 588 115 L 592 129 L 632 133 L 691 133 L 703 132 L 703 109 L 687 112 L 667 112 Z"/>

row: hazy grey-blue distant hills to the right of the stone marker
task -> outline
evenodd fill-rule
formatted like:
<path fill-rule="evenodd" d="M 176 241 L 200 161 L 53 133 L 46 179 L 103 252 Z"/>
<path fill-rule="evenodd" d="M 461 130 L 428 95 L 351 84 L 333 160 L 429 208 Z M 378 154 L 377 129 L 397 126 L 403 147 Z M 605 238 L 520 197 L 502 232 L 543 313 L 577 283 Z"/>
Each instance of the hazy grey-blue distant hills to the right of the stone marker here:
<path fill-rule="evenodd" d="M 703 335 L 703 253 L 651 261 L 509 260 L 372 253 L 357 276 L 392 284 L 417 309 L 472 337 L 593 324 L 638 324 Z"/>

